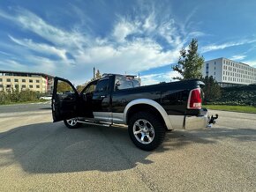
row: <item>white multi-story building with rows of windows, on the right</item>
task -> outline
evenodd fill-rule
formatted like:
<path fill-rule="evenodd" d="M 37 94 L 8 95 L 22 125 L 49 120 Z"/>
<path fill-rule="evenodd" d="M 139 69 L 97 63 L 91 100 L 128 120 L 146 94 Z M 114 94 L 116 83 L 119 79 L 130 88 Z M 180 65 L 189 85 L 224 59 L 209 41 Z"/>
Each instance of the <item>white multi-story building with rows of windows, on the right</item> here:
<path fill-rule="evenodd" d="M 203 77 L 213 76 L 221 86 L 256 83 L 256 68 L 223 57 L 205 62 L 202 74 Z"/>

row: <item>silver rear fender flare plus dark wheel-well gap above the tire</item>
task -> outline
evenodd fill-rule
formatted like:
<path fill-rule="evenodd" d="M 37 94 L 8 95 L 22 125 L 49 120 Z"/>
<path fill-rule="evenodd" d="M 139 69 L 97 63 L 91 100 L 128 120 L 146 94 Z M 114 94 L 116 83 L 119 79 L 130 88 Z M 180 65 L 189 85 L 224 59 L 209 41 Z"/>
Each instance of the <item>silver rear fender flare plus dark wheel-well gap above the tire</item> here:
<path fill-rule="evenodd" d="M 124 122 L 127 124 L 132 114 L 139 111 L 150 111 L 154 114 L 158 115 L 162 122 L 166 125 L 167 129 L 172 129 L 171 122 L 169 121 L 169 116 L 164 110 L 164 108 L 154 100 L 148 99 L 138 99 L 132 100 L 127 106 L 124 108 Z"/>

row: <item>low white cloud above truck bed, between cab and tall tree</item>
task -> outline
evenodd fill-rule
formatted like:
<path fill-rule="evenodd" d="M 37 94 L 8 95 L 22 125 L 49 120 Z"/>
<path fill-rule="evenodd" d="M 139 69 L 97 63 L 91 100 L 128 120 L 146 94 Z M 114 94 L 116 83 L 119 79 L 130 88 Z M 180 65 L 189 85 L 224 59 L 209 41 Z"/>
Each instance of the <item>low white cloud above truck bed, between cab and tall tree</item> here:
<path fill-rule="evenodd" d="M 181 77 L 177 71 L 171 70 L 166 73 L 156 73 L 141 76 L 141 85 L 154 85 L 159 84 L 160 82 L 170 82 L 170 81 L 177 81 L 173 78 Z"/>

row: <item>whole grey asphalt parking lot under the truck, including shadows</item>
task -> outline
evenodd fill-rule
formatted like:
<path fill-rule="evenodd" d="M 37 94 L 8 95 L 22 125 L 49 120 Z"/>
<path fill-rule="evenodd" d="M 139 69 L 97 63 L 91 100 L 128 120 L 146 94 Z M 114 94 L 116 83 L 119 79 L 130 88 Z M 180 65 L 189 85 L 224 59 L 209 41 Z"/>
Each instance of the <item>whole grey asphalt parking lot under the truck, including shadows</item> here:
<path fill-rule="evenodd" d="M 18 108 L 0 107 L 0 191 L 255 191 L 256 114 L 211 111 L 212 129 L 148 152 L 125 127 L 66 129 L 49 105 Z"/>

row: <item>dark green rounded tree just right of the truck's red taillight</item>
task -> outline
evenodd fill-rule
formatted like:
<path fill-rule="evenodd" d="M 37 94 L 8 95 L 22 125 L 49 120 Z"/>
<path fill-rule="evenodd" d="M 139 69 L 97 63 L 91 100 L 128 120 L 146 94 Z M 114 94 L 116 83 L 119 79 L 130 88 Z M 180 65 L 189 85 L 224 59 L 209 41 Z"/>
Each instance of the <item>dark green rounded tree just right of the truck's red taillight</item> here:
<path fill-rule="evenodd" d="M 205 83 L 205 86 L 203 88 L 203 92 L 205 93 L 205 99 L 204 101 L 212 102 L 216 101 L 221 98 L 222 96 L 222 90 L 221 86 L 218 85 L 215 78 L 213 76 L 202 78 L 202 81 Z"/>

